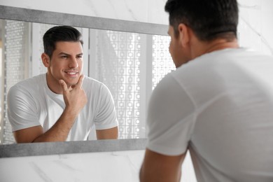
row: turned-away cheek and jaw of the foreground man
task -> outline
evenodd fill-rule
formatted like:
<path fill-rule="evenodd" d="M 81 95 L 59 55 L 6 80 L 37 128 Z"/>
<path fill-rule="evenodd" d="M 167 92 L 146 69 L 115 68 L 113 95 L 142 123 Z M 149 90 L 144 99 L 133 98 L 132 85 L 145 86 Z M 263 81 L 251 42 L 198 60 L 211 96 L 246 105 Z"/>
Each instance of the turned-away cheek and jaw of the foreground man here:
<path fill-rule="evenodd" d="M 176 68 L 178 68 L 182 64 L 189 61 L 189 58 L 187 56 L 188 52 L 187 49 L 182 46 L 182 34 L 179 34 L 179 36 L 176 37 L 174 34 L 174 27 L 172 27 L 171 25 L 169 25 L 168 34 L 169 36 L 171 36 L 171 41 L 169 43 L 169 53 L 172 55 L 172 59 Z"/>

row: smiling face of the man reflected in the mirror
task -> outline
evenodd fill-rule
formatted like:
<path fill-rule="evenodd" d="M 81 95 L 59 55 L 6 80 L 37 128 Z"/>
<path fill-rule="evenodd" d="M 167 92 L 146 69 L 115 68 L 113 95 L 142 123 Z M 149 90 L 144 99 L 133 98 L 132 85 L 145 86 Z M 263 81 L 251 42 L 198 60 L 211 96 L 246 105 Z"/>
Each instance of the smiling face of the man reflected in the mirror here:
<path fill-rule="evenodd" d="M 70 87 L 78 83 L 83 66 L 83 47 L 80 42 L 59 41 L 48 64 L 48 86 L 59 87 L 59 80 Z"/>

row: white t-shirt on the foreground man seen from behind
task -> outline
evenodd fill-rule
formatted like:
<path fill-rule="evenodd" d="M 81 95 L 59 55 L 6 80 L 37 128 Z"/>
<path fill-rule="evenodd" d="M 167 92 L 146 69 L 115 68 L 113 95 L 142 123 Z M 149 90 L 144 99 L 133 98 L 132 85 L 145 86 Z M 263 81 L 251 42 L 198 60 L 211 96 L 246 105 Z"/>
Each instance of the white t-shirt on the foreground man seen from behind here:
<path fill-rule="evenodd" d="M 225 49 L 183 64 L 155 88 L 147 122 L 147 147 L 189 148 L 198 181 L 273 181 L 273 57 Z"/>

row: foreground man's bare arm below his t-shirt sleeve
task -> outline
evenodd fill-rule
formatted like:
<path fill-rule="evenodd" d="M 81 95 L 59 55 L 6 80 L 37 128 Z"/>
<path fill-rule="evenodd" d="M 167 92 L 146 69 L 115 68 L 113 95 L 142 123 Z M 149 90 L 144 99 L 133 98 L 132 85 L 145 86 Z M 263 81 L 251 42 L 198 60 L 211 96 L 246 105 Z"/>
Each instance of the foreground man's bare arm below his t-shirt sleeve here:
<path fill-rule="evenodd" d="M 186 153 L 176 156 L 162 155 L 147 148 L 139 174 L 140 181 L 180 181 L 181 165 L 185 156 Z"/>

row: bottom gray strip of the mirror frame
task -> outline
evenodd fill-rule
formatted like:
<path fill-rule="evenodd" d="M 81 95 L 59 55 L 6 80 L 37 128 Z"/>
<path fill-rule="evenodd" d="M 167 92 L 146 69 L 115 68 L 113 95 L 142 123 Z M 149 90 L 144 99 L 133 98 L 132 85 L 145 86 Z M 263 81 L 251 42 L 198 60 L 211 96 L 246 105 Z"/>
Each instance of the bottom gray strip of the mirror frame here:
<path fill-rule="evenodd" d="M 0 145 L 0 158 L 110 151 L 139 151 L 146 148 L 146 141 L 146 139 L 118 139 L 7 144 Z"/>

